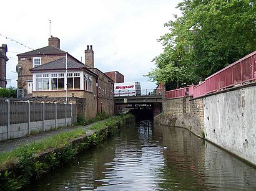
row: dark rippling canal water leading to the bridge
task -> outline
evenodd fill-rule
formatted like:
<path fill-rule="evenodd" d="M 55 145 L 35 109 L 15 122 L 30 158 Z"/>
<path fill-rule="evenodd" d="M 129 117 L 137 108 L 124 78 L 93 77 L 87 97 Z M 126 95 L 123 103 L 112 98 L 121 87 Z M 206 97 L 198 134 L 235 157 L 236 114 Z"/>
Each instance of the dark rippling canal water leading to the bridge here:
<path fill-rule="evenodd" d="M 144 120 L 26 190 L 256 190 L 256 169 L 187 129 Z"/>

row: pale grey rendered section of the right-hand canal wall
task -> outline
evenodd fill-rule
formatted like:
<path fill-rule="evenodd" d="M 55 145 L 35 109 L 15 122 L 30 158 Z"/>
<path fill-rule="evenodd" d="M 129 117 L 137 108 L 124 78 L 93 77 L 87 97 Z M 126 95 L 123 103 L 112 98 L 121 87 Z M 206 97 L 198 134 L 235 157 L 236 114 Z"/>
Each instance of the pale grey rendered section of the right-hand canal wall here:
<path fill-rule="evenodd" d="M 256 86 L 204 98 L 205 139 L 256 165 Z"/>

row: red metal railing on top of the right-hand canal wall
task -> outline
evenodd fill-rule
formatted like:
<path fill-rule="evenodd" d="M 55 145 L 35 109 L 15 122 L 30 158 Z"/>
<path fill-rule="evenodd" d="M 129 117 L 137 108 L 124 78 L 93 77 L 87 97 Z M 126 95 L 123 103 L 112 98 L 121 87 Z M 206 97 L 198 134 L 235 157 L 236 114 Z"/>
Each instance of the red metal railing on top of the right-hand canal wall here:
<path fill-rule="evenodd" d="M 229 88 L 256 79 L 256 51 L 237 60 L 219 72 L 206 78 L 204 82 L 189 88 L 166 91 L 166 98 L 178 98 L 193 95 L 194 98 L 207 93 Z M 188 89 L 188 90 L 187 90 Z M 187 92 L 187 95 L 185 92 Z"/>

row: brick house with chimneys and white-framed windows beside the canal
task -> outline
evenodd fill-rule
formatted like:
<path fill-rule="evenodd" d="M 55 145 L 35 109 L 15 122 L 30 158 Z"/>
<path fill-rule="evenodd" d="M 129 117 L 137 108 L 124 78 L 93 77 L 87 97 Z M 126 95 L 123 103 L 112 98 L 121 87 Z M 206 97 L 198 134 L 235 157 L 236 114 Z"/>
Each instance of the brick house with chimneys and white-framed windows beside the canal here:
<path fill-rule="evenodd" d="M 92 118 L 98 112 L 112 114 L 114 109 L 109 108 L 114 107 L 111 93 L 114 82 L 92 70 L 93 56 L 92 46 L 90 49 L 87 46 L 84 65 L 60 49 L 58 38 L 50 37 L 47 47 L 17 55 L 17 87 L 24 90 L 25 97 L 82 98 L 86 118 Z M 104 88 L 108 93 L 104 97 L 99 93 L 102 82 L 107 82 Z"/>

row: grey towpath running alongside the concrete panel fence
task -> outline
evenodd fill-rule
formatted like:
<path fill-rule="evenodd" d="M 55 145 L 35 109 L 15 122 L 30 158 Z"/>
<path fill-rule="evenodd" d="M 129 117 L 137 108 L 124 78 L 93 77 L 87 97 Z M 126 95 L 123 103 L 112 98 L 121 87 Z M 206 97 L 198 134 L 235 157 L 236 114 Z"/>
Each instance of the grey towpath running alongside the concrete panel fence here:
<path fill-rule="evenodd" d="M 102 121 L 104 122 L 106 120 L 102 120 Z M 97 121 L 96 123 L 99 123 L 102 121 Z M 12 151 L 12 150 L 16 149 L 17 147 L 21 146 L 22 144 L 29 144 L 31 142 L 39 141 L 46 137 L 51 137 L 51 136 L 54 136 L 55 134 L 59 134 L 62 132 L 72 131 L 77 128 L 89 129 L 92 125 L 94 125 L 96 123 L 92 123 L 92 124 L 89 124 L 86 126 L 71 126 L 71 127 L 67 127 L 67 128 L 55 129 L 55 130 L 51 130 L 51 131 L 45 131 L 45 132 L 42 132 L 42 133 L 39 133 L 36 135 L 28 135 L 26 137 L 2 141 L 2 142 L 0 142 L 0 154 L 3 151 Z"/>

